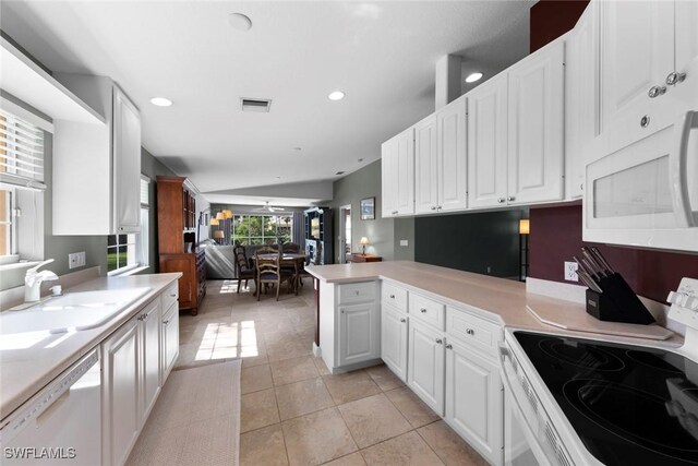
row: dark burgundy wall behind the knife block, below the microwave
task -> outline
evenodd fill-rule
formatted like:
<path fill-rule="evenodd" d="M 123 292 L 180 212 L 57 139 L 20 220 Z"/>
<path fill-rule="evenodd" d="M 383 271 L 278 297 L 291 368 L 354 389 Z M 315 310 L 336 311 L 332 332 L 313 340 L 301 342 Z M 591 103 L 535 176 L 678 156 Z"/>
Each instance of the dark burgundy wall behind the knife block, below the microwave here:
<path fill-rule="evenodd" d="M 535 278 L 565 282 L 565 261 L 579 255 L 581 205 L 531 208 L 530 272 Z M 595 244 L 638 295 L 664 302 L 684 276 L 698 278 L 698 255 Z"/>

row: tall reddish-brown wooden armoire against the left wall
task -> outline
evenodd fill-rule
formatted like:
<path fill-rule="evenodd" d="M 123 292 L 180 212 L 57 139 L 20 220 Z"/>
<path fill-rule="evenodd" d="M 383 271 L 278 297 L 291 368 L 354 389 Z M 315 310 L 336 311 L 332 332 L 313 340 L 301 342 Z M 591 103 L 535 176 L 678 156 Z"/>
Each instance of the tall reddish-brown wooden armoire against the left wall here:
<path fill-rule="evenodd" d="M 160 272 L 181 272 L 179 309 L 198 313 L 206 295 L 206 256 L 196 248 L 196 201 L 183 177 L 157 177 L 157 238 Z"/>

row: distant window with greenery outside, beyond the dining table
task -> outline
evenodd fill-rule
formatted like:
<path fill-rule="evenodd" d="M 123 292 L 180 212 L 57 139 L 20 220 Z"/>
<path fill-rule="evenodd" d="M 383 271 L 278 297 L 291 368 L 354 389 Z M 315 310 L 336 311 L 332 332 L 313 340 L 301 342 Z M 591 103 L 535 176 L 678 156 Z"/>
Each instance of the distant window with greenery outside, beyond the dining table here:
<path fill-rule="evenodd" d="M 241 244 L 290 242 L 292 228 L 290 215 L 234 215 L 231 238 Z"/>

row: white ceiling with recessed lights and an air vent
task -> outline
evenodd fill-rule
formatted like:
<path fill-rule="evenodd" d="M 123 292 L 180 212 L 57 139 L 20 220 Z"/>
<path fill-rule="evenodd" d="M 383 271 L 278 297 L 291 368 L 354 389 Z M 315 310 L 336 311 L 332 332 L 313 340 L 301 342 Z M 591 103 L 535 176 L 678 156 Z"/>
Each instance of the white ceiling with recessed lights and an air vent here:
<path fill-rule="evenodd" d="M 117 81 L 146 150 L 214 202 L 298 205 L 320 198 L 297 195 L 299 183 L 378 159 L 383 141 L 434 110 L 440 57 L 486 79 L 526 56 L 531 4 L 3 0 L 0 26 L 53 71 Z M 233 12 L 250 32 L 228 25 Z M 327 99 L 334 89 L 346 98 Z M 241 112 L 241 97 L 270 98 L 270 112 Z M 266 186 L 276 194 L 261 195 Z"/>

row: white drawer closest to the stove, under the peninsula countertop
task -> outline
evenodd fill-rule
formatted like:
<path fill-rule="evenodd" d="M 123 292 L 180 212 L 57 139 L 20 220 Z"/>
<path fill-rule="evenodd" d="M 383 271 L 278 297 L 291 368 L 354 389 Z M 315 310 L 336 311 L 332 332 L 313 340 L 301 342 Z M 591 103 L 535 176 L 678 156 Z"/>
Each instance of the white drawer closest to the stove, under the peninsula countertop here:
<path fill-rule="evenodd" d="M 446 309 L 446 334 L 482 351 L 496 355 L 502 327 L 456 308 Z"/>

